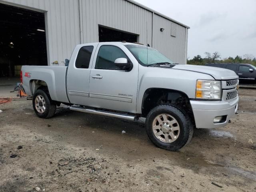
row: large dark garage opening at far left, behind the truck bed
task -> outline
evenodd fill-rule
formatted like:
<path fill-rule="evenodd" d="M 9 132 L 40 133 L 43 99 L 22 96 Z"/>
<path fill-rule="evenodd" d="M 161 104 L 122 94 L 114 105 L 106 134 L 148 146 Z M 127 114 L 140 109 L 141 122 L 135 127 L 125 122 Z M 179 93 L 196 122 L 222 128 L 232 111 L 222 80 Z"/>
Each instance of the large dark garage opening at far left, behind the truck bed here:
<path fill-rule="evenodd" d="M 44 13 L 0 3 L 0 77 L 22 65 L 47 65 Z"/>

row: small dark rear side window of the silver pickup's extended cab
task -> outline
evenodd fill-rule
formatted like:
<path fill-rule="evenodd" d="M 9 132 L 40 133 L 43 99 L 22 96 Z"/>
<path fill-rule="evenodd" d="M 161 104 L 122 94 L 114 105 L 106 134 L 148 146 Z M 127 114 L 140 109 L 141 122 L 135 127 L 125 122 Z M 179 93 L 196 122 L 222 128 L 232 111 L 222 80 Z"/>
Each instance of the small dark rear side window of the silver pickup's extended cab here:
<path fill-rule="evenodd" d="M 80 48 L 76 58 L 76 68 L 89 68 L 92 51 L 93 46 L 84 46 Z"/>

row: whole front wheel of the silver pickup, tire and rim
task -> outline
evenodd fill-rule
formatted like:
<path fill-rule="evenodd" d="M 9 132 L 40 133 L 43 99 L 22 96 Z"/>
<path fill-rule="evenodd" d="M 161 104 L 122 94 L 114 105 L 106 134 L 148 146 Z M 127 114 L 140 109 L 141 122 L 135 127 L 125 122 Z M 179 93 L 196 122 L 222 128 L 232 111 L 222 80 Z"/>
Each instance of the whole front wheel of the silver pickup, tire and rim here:
<path fill-rule="evenodd" d="M 159 148 L 176 151 L 192 138 L 193 124 L 180 108 L 163 104 L 153 108 L 146 118 L 149 139 Z"/>

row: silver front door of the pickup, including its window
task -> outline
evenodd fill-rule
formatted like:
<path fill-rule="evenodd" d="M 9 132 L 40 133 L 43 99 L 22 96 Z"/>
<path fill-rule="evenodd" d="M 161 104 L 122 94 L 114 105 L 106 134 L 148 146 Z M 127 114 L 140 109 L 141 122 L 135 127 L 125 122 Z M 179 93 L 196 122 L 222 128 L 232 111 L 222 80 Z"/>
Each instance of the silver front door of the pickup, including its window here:
<path fill-rule="evenodd" d="M 114 44 L 114 45 L 113 45 Z M 138 62 L 121 43 L 99 43 L 90 73 L 90 103 L 98 108 L 136 113 Z M 133 63 L 130 71 L 115 66 L 117 58 Z"/>

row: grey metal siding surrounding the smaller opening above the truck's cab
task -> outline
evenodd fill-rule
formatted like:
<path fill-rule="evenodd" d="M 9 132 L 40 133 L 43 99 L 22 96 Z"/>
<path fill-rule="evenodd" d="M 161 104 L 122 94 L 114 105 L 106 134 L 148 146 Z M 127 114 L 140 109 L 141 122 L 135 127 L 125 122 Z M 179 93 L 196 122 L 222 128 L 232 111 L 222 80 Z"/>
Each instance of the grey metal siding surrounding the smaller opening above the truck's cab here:
<path fill-rule="evenodd" d="M 152 12 L 125 0 L 83 0 L 80 6 L 84 43 L 98 42 L 98 25 L 102 25 L 138 34 L 141 43 L 151 44 Z"/>

